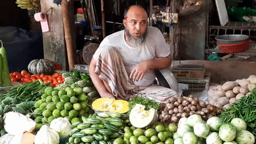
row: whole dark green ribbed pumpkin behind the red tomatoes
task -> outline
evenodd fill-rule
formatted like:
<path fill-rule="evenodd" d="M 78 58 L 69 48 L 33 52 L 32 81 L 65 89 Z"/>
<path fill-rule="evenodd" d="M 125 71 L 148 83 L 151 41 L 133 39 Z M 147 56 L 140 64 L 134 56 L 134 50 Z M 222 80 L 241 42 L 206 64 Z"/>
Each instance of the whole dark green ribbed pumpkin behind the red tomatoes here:
<path fill-rule="evenodd" d="M 55 65 L 48 59 L 34 59 L 28 64 L 28 70 L 32 74 L 53 74 Z"/>

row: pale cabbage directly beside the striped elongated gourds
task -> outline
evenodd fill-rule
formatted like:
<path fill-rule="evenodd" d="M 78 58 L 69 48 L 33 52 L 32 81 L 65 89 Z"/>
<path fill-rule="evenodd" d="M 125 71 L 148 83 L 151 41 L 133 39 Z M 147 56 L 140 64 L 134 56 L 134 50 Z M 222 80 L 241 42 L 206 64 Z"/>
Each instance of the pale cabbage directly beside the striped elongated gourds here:
<path fill-rule="evenodd" d="M 52 120 L 50 124 L 50 128 L 55 130 L 59 134 L 60 138 L 69 137 L 69 133 L 72 130 L 71 124 L 66 117 L 56 118 Z"/>

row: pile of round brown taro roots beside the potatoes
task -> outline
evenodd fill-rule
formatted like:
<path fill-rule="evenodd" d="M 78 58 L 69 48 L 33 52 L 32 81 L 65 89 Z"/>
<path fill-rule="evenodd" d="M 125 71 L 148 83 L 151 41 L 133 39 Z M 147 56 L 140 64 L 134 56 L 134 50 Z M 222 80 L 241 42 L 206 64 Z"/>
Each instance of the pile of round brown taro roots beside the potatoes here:
<path fill-rule="evenodd" d="M 199 114 L 204 120 L 220 113 L 218 107 L 199 101 L 198 98 L 190 97 L 172 97 L 166 104 L 162 114 L 159 115 L 162 123 L 177 123 L 181 117 L 188 117 L 193 114 Z"/>

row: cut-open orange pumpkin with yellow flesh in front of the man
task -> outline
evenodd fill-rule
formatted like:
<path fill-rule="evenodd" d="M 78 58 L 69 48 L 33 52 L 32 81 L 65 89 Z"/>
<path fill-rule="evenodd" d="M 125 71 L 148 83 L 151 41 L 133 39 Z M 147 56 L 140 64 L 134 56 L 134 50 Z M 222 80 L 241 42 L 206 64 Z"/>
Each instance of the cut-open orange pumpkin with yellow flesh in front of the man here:
<path fill-rule="evenodd" d="M 128 102 L 124 100 L 114 100 L 110 98 L 99 98 L 92 103 L 94 111 L 109 111 L 126 113 L 129 111 Z"/>

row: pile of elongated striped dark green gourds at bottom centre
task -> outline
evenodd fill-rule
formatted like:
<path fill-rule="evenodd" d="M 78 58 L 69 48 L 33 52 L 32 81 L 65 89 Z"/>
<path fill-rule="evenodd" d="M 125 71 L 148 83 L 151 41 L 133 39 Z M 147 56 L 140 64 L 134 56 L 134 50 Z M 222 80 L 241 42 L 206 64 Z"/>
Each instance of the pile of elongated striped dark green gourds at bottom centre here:
<path fill-rule="evenodd" d="M 131 126 L 127 115 L 120 113 L 94 113 L 88 118 L 82 116 L 82 120 L 72 123 L 68 144 L 113 144 L 118 138 L 124 137 L 124 126 Z"/>

